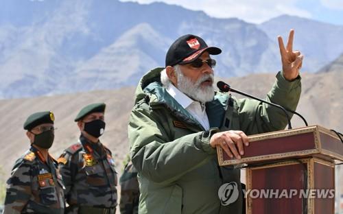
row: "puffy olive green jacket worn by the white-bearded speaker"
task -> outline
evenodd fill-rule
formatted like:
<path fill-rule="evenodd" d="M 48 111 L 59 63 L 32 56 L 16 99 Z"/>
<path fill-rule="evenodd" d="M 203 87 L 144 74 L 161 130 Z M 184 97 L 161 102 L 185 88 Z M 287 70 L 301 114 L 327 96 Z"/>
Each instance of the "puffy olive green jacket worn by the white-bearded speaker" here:
<path fill-rule="evenodd" d="M 287 125 L 284 113 L 252 99 L 217 92 L 206 103 L 211 129 L 205 131 L 163 88 L 162 69 L 149 71 L 141 79 L 128 124 L 130 156 L 139 172 L 139 213 L 240 214 L 241 191 L 228 206 L 222 206 L 218 197 L 226 182 L 237 182 L 241 190 L 240 170 L 218 167 L 211 136 L 224 130 L 242 130 L 247 135 L 282 130 Z M 288 82 L 279 72 L 266 99 L 295 110 L 300 88 L 300 78 Z"/>

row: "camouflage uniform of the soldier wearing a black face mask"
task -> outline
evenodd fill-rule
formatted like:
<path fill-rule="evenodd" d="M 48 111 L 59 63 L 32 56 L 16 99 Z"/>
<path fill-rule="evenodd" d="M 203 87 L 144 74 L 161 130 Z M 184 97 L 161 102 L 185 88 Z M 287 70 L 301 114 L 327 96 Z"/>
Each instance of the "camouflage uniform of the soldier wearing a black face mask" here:
<path fill-rule="evenodd" d="M 117 172 L 110 150 L 81 135 L 58 163 L 69 204 L 66 213 L 115 213 Z"/>

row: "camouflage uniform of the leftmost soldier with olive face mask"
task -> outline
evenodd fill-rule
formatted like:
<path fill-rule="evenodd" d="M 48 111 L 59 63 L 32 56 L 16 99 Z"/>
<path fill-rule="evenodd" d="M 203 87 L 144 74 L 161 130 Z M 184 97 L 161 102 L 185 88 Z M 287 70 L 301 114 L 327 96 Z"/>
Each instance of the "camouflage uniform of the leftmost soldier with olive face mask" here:
<path fill-rule="evenodd" d="M 21 156 L 12 169 L 3 213 L 64 213 L 64 186 L 57 162 L 36 149 Z"/>

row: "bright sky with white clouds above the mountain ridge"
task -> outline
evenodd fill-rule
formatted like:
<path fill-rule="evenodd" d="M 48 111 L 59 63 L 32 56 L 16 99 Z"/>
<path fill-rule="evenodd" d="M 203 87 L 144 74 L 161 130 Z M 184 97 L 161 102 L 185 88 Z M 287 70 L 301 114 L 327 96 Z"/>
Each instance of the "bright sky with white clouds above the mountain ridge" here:
<path fill-rule="evenodd" d="M 152 3 L 156 0 L 120 0 Z M 239 18 L 249 23 L 262 23 L 282 14 L 343 25 L 343 0 L 158 0 L 202 10 L 216 18 Z"/>

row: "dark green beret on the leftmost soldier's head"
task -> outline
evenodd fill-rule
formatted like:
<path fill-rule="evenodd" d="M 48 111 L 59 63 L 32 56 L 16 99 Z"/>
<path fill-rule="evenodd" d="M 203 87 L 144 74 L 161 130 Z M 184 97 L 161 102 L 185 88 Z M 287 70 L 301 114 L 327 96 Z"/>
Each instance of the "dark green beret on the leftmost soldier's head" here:
<path fill-rule="evenodd" d="M 54 113 L 51 111 L 36 112 L 32 115 L 29 115 L 29 117 L 27 117 L 24 123 L 24 129 L 32 130 L 32 128 L 43 123 L 54 124 L 54 120 L 55 120 L 55 116 L 54 116 Z"/>

